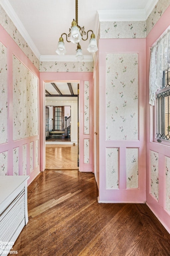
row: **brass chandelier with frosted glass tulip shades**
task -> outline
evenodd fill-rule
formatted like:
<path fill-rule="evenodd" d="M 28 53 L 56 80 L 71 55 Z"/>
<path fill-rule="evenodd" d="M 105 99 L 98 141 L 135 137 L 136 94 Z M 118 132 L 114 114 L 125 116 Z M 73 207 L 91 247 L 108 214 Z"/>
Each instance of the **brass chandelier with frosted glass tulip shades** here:
<path fill-rule="evenodd" d="M 63 39 L 63 35 L 66 35 L 66 41 L 68 43 L 72 42 L 74 44 L 77 44 L 76 59 L 78 61 L 83 60 L 84 56 L 82 53 L 80 41 L 81 40 L 86 41 L 88 39 L 89 32 L 91 32 L 91 37 L 89 40 L 87 50 L 88 50 L 88 52 L 92 53 L 92 52 L 96 52 L 98 50 L 97 41 L 95 39 L 95 35 L 92 30 L 88 30 L 87 32 L 85 32 L 84 26 L 80 27 L 78 25 L 78 0 L 76 0 L 76 20 L 73 19 L 72 26 L 71 26 L 71 28 L 69 28 L 69 34 L 67 35 L 66 33 L 63 33 L 61 35 L 61 37 L 59 38 L 56 53 L 59 55 L 66 54 L 66 48 L 65 48 L 64 39 Z M 83 38 L 83 36 L 86 36 L 86 38 Z M 68 39 L 70 39 L 70 41 Z"/>

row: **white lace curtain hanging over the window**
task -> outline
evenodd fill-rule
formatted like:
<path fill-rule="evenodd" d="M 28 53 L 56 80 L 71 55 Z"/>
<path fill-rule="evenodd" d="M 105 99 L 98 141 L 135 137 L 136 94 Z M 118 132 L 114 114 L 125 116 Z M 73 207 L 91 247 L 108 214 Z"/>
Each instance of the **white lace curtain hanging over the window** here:
<path fill-rule="evenodd" d="M 155 105 L 155 94 L 162 86 L 163 71 L 170 67 L 170 29 L 151 48 L 149 68 L 149 104 Z"/>

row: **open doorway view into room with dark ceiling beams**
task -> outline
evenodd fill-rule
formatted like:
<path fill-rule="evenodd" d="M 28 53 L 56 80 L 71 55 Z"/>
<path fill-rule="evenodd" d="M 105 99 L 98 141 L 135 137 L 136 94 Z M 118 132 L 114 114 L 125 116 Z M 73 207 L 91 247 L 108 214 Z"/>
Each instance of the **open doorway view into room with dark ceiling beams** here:
<path fill-rule="evenodd" d="M 78 83 L 75 82 L 45 83 L 45 105 L 49 114 L 47 118 L 46 113 L 49 130 L 45 143 L 46 170 L 79 169 L 77 89 Z"/>

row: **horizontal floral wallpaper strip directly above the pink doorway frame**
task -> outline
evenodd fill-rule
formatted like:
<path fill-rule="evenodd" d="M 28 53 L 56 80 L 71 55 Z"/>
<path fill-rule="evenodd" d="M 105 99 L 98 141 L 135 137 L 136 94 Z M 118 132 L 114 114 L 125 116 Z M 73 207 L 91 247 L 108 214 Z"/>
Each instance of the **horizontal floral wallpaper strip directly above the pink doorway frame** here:
<path fill-rule="evenodd" d="M 40 72 L 93 72 L 93 62 L 41 61 Z"/>

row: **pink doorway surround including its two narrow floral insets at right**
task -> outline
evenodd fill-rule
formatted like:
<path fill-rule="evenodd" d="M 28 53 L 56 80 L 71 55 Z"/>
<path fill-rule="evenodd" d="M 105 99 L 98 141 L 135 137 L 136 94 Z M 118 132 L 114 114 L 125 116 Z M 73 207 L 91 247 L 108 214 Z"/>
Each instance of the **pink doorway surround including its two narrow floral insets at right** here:
<path fill-rule="evenodd" d="M 45 170 L 45 84 L 51 81 L 76 82 L 80 84 L 79 171 L 93 172 L 93 73 L 76 72 L 75 70 L 73 72 L 40 72 L 40 170 Z M 50 99 L 53 101 L 53 95 Z M 70 97 L 68 98 L 68 100 L 71 99 Z M 74 102 L 72 104 L 74 105 Z M 76 118 L 77 115 L 76 113 Z"/>

